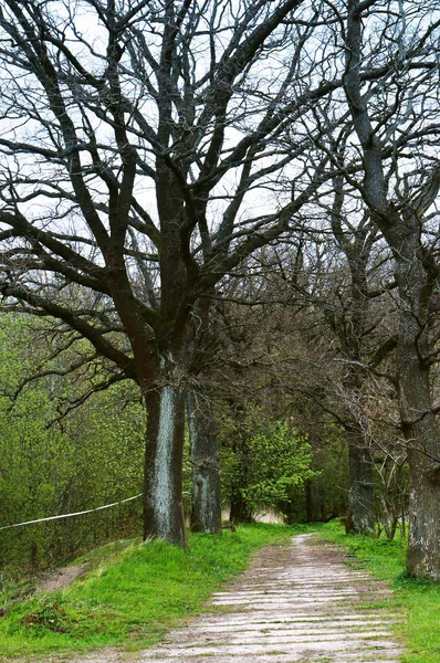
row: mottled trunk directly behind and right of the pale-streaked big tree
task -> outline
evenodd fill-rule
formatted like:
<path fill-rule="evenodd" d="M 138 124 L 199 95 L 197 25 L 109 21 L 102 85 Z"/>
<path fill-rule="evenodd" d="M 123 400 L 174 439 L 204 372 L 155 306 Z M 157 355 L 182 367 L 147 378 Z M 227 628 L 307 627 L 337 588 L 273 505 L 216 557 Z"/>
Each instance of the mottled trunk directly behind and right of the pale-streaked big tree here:
<path fill-rule="evenodd" d="M 221 533 L 219 444 L 212 404 L 206 397 L 187 397 L 192 463 L 191 532 Z"/>

